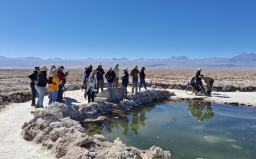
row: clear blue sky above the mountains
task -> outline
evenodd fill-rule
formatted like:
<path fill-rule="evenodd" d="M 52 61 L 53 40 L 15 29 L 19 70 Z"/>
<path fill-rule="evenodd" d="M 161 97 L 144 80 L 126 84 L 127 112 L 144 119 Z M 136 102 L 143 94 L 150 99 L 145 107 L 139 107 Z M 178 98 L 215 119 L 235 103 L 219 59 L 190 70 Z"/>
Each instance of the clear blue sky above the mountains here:
<path fill-rule="evenodd" d="M 0 55 L 232 57 L 256 53 L 256 1 L 1 0 Z"/>

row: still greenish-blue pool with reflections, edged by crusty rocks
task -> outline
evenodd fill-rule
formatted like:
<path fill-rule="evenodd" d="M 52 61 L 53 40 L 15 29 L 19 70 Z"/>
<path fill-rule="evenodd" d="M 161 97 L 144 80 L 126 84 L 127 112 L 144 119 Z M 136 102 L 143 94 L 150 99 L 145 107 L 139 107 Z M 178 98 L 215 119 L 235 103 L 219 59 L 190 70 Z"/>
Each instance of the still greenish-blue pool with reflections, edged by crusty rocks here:
<path fill-rule="evenodd" d="M 89 135 L 119 137 L 127 146 L 157 145 L 172 158 L 256 158 L 256 108 L 205 102 L 152 104 L 85 123 Z"/>

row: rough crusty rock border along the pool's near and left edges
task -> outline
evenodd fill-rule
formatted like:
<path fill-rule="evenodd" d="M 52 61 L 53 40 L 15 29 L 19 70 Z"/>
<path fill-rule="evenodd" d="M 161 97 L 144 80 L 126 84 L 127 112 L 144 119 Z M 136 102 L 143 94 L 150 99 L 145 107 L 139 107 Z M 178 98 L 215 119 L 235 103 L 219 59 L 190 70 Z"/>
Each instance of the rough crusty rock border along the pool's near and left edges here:
<path fill-rule="evenodd" d="M 151 90 L 128 94 L 127 99 L 118 104 L 92 102 L 87 105 L 67 106 L 55 102 L 53 106 L 31 111 L 34 119 L 23 124 L 21 134 L 24 139 L 41 143 L 51 149 L 57 158 L 171 158 L 169 151 L 163 151 L 156 146 L 143 151 L 126 147 L 119 139 L 110 143 L 102 135 L 89 136 L 76 120 L 95 119 L 114 110 L 132 109 L 170 98 L 172 95 L 174 93 L 164 90 Z"/>

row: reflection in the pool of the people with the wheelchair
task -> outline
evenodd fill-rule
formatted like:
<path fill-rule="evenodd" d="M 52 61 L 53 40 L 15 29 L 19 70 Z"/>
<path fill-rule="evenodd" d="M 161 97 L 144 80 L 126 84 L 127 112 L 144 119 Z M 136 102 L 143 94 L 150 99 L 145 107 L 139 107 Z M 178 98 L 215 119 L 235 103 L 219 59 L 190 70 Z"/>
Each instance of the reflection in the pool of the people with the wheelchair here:
<path fill-rule="evenodd" d="M 205 108 L 206 111 L 204 112 Z M 188 111 L 200 122 L 203 122 L 204 120 L 210 119 L 214 116 L 212 104 L 210 104 L 210 102 L 189 102 Z"/>

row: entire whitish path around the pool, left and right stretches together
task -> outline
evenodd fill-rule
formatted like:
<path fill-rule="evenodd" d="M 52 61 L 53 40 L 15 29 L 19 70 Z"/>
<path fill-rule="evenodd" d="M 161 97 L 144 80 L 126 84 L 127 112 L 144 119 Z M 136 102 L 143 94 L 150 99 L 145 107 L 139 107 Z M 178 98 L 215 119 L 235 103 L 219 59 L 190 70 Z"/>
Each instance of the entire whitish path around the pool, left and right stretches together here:
<path fill-rule="evenodd" d="M 128 91 L 131 91 L 129 88 Z M 188 96 L 185 91 L 170 89 L 175 92 L 175 98 L 193 98 L 198 96 Z M 83 92 L 68 91 L 65 92 L 67 104 L 85 104 Z M 238 102 L 243 104 L 250 104 L 256 106 L 256 92 L 213 92 L 213 97 L 207 97 L 205 100 L 214 102 Z M 44 105 L 46 106 L 48 97 L 44 98 Z M 40 144 L 34 144 L 30 141 L 22 139 L 20 135 L 20 127 L 24 122 L 30 121 L 33 116 L 30 111 L 34 107 L 30 106 L 29 102 L 11 104 L 6 106 L 0 112 L 0 158 L 19 158 L 19 159 L 51 159 L 55 158 L 51 151 L 44 149 Z"/>

